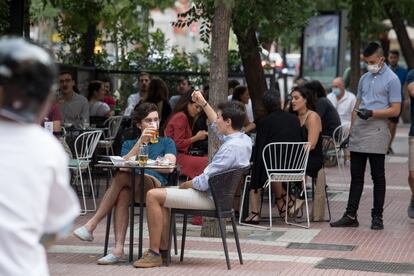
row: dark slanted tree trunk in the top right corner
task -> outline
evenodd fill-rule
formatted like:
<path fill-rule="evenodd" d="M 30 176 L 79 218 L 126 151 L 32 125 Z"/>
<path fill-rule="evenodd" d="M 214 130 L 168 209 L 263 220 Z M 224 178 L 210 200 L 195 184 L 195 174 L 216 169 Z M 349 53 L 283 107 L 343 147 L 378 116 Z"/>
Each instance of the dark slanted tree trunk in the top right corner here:
<path fill-rule="evenodd" d="M 392 26 L 397 34 L 401 52 L 404 55 L 408 68 L 414 68 L 414 49 L 404 25 L 403 18 L 395 6 L 395 1 L 388 1 L 383 4 L 384 9 L 392 22 Z"/>

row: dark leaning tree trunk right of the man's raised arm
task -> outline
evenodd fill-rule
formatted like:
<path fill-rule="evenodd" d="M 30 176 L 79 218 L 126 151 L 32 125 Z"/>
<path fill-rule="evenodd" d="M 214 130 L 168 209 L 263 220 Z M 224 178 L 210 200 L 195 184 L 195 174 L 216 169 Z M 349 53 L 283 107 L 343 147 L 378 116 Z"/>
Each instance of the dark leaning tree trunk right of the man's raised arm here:
<path fill-rule="evenodd" d="M 252 99 L 254 115 L 255 118 L 258 118 L 265 114 L 262 97 L 267 90 L 267 84 L 260 59 L 256 31 L 252 28 L 246 31 L 238 27 L 237 21 L 234 21 L 234 32 L 237 36 L 237 44 L 239 45 L 244 75 Z"/>

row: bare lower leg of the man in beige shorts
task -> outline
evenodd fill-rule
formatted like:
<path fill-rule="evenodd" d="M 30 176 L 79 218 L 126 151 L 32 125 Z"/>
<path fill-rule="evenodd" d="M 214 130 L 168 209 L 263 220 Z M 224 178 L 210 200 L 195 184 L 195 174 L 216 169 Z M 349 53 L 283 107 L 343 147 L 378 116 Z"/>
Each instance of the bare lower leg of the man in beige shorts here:
<path fill-rule="evenodd" d="M 147 192 L 147 221 L 148 232 L 150 239 L 149 248 L 156 253 L 159 253 L 161 244 L 161 235 L 164 225 L 159 221 L 164 221 L 164 202 L 167 197 L 167 192 L 163 188 L 152 189 Z"/>

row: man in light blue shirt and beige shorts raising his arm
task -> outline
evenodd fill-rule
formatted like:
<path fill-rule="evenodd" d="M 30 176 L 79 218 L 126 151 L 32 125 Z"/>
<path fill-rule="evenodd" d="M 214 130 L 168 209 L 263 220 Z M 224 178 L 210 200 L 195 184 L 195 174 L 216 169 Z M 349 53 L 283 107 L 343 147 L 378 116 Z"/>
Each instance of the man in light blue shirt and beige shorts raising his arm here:
<path fill-rule="evenodd" d="M 153 189 L 148 192 L 146 204 L 150 246 L 144 256 L 134 263 L 135 267 L 162 265 L 160 253 L 168 248 L 169 208 L 214 210 L 209 176 L 249 165 L 252 142 L 240 132 L 246 118 L 244 104 L 236 101 L 220 104 L 216 114 L 201 92 L 193 92 L 192 100 L 203 108 L 211 128 L 224 143 L 201 175 L 182 183 L 179 189 Z"/>

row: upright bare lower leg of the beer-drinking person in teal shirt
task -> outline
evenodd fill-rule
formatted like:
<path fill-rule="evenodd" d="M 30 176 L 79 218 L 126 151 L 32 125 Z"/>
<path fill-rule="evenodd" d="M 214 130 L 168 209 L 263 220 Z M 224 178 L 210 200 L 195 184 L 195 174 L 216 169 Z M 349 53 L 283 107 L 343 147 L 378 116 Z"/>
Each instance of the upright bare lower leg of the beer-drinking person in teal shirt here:
<path fill-rule="evenodd" d="M 112 254 L 118 257 L 124 255 L 125 236 L 128 228 L 128 211 L 130 202 L 131 190 L 129 187 L 124 187 L 119 193 L 114 212 L 115 247 L 112 250 Z"/>

